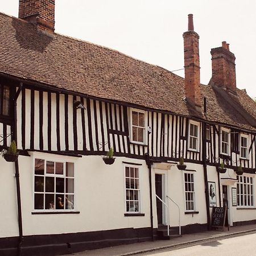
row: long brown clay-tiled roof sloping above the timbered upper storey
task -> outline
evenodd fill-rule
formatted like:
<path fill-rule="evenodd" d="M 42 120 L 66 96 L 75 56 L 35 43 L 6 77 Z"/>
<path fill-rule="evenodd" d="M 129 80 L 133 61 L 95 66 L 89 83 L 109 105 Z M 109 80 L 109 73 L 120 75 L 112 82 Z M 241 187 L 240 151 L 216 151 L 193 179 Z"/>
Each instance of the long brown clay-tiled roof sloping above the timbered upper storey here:
<path fill-rule="evenodd" d="M 1 73 L 88 96 L 256 130 L 225 100 L 234 98 L 256 119 L 256 104 L 241 90 L 232 96 L 201 85 L 208 102 L 207 115 L 202 116 L 183 100 L 184 79 L 166 69 L 96 44 L 59 34 L 44 35 L 32 24 L 5 14 L 0 14 L 0 28 Z"/>

